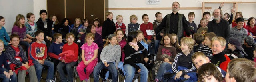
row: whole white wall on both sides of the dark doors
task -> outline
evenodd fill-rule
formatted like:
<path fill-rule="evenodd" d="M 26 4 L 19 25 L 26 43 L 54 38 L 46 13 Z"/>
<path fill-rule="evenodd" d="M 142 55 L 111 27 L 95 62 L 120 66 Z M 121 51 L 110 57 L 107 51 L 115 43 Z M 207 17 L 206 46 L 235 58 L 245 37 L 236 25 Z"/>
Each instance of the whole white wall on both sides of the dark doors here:
<path fill-rule="evenodd" d="M 255 0 L 176 0 L 180 3 L 181 7 L 202 7 L 202 2 L 233 2 L 233 1 L 242 1 L 242 2 L 256 2 Z M 157 7 L 171 7 L 172 0 L 160 0 L 158 5 L 147 5 L 146 0 L 109 0 L 109 8 L 157 8 Z M 33 5 L 31 5 L 33 4 Z M 205 10 L 210 13 L 215 8 L 218 8 L 220 4 L 205 4 L 206 7 L 212 7 L 210 10 Z M 230 13 L 229 8 L 232 4 L 225 4 L 222 10 L 224 13 Z M 238 11 L 243 13 L 244 18 L 249 18 L 251 16 L 256 16 L 256 4 L 238 4 Z M 18 14 L 22 14 L 26 17 L 28 12 L 35 14 L 36 20 L 38 20 L 39 12 L 41 9 L 47 10 L 47 0 L 0 0 L 0 16 L 4 16 L 6 20 L 5 28 L 7 32 L 11 32 L 12 25 L 14 24 L 15 18 Z M 149 21 L 153 22 L 155 20 L 154 14 L 156 12 L 161 12 L 164 16 L 170 14 L 172 10 L 109 10 L 114 13 L 114 22 L 116 22 L 116 16 L 122 15 L 124 17 L 124 24 L 130 23 L 130 15 L 135 14 L 138 16 L 138 23 L 142 24 L 142 15 L 148 14 Z M 194 22 L 199 24 L 202 11 L 201 10 L 180 10 L 179 13 L 182 13 L 186 16 L 189 12 L 195 13 Z"/>

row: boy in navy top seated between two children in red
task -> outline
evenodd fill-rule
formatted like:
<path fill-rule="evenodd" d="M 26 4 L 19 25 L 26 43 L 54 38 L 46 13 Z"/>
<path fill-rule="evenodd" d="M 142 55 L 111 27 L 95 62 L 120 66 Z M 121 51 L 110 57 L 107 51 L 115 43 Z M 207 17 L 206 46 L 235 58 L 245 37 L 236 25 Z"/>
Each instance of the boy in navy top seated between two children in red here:
<path fill-rule="evenodd" d="M 56 66 L 60 62 L 60 58 L 58 55 L 62 53 L 62 48 L 64 43 L 62 43 L 62 35 L 60 33 L 55 33 L 53 35 L 53 38 L 55 42 L 51 44 L 48 50 L 48 55 L 50 56 L 50 58 L 52 58 L 51 61 L 54 62 L 54 72 L 55 72 Z"/>

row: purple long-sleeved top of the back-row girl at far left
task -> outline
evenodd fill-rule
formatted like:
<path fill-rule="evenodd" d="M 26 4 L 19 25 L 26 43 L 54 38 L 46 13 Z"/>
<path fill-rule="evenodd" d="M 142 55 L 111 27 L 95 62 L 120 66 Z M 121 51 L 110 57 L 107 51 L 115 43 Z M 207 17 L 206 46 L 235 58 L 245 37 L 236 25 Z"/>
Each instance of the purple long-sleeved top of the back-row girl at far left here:
<path fill-rule="evenodd" d="M 20 41 L 23 41 L 23 39 L 26 39 L 26 27 L 18 27 L 16 25 L 13 26 L 12 28 L 12 34 L 18 34 L 18 36 L 20 36 Z"/>

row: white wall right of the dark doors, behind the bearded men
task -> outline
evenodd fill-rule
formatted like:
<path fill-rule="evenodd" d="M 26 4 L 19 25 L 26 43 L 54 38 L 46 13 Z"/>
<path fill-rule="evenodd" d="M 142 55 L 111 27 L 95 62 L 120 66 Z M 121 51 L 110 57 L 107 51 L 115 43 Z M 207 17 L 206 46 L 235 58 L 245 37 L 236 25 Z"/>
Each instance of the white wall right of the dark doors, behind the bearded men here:
<path fill-rule="evenodd" d="M 255 0 L 176 0 L 180 3 L 180 7 L 202 7 L 202 2 L 233 2 L 233 1 L 242 1 L 242 2 L 255 2 Z M 171 7 L 173 0 L 160 0 L 160 4 L 157 5 L 147 5 L 146 0 L 109 0 L 109 8 L 161 8 L 161 7 Z M 206 7 L 212 7 L 210 10 L 205 10 L 210 13 L 214 9 L 218 8 L 220 4 L 205 4 Z M 224 4 L 222 10 L 224 13 L 230 13 L 231 7 L 233 4 Z M 229 9 L 230 8 L 230 9 Z M 251 16 L 256 16 L 256 4 L 238 4 L 238 11 L 243 13 L 244 18 L 249 18 Z M 124 24 L 130 23 L 130 15 L 135 14 L 138 16 L 138 23 L 142 24 L 142 15 L 148 14 L 149 22 L 154 22 L 156 12 L 161 12 L 162 16 L 172 13 L 172 10 L 109 10 L 114 14 L 114 22 L 116 22 L 116 16 L 122 15 L 124 17 Z M 189 12 L 195 13 L 194 22 L 198 25 L 202 17 L 202 10 L 180 10 L 179 13 L 184 14 L 187 18 Z M 212 19 L 211 19 L 212 20 Z"/>

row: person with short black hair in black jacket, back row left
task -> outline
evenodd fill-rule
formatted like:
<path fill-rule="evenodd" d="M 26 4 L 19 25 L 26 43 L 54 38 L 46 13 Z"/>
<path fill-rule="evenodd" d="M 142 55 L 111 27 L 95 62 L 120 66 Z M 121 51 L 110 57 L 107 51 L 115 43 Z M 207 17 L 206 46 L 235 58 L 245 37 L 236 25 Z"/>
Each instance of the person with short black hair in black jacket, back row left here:
<path fill-rule="evenodd" d="M 52 24 L 53 21 L 47 18 L 47 11 L 40 10 L 40 18 L 36 22 L 38 30 L 44 32 L 44 41 L 46 42 L 47 48 L 50 47 L 52 41 Z"/>

